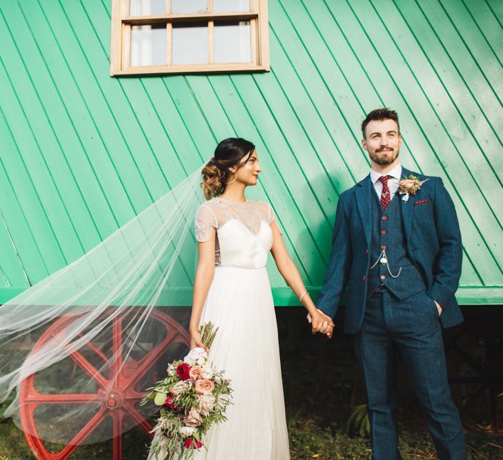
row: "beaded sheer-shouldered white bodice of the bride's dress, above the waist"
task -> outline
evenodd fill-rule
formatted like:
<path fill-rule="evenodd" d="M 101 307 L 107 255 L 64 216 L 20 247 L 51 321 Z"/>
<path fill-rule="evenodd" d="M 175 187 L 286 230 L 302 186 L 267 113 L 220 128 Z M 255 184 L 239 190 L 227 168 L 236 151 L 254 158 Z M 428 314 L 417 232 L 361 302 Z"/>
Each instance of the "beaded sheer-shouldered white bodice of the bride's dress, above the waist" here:
<path fill-rule="evenodd" d="M 262 268 L 273 246 L 273 209 L 264 201 L 235 203 L 221 198 L 203 203 L 195 216 L 197 241 L 208 241 L 215 228 L 215 264 Z"/>

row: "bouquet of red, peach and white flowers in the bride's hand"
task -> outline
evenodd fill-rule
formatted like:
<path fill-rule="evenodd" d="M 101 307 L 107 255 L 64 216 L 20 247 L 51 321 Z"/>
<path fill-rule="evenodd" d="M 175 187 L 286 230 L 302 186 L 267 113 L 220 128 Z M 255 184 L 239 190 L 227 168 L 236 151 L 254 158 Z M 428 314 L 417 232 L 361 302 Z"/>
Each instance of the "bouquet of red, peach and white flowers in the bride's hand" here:
<path fill-rule="evenodd" d="M 204 345 L 210 348 L 217 333 L 213 323 L 204 323 L 199 332 Z M 175 454 L 180 460 L 191 459 L 194 450 L 203 446 L 204 434 L 210 427 L 226 420 L 230 381 L 208 362 L 204 348 L 190 350 L 183 360 L 170 363 L 167 371 L 168 376 L 150 388 L 142 401 L 153 399 L 161 406 L 152 430 L 156 435 L 150 454 L 158 460 L 172 460 Z"/>

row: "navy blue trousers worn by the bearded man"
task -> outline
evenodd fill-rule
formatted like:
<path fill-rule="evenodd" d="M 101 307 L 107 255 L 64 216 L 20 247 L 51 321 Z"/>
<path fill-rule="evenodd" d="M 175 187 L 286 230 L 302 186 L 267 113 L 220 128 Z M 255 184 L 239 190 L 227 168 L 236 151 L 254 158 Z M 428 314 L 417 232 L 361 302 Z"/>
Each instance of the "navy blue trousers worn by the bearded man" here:
<path fill-rule="evenodd" d="M 440 460 L 465 460 L 464 432 L 448 386 L 437 307 L 425 291 L 399 301 L 384 289 L 367 301 L 353 336 L 364 372 L 373 459 L 401 459 L 395 350 L 402 354 Z"/>

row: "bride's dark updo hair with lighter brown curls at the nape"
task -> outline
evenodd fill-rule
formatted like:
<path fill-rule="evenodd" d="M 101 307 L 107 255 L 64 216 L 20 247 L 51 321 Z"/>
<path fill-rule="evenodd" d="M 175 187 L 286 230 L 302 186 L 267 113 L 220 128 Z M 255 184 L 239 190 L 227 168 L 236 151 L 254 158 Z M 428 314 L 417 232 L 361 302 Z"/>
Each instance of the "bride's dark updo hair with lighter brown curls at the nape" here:
<path fill-rule="evenodd" d="M 239 137 L 229 137 L 218 144 L 215 156 L 201 171 L 203 174 L 201 188 L 206 199 L 218 197 L 224 192 L 226 184 L 233 181 L 235 174 L 229 168 L 246 163 L 253 150 L 255 150 L 253 143 Z"/>

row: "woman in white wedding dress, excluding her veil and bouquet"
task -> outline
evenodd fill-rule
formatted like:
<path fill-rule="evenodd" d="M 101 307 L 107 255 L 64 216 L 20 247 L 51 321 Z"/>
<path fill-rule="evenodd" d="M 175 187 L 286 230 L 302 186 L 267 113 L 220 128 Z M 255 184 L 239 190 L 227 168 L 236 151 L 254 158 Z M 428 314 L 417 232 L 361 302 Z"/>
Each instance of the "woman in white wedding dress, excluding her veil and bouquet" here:
<path fill-rule="evenodd" d="M 219 327 L 210 361 L 233 386 L 228 420 L 208 432 L 195 459 L 289 459 L 273 295 L 266 272 L 272 252 L 279 272 L 310 314 L 314 332 L 332 336 L 332 320 L 316 309 L 290 259 L 270 204 L 245 198 L 262 168 L 253 143 L 225 139 L 203 168 L 206 201 L 197 210 L 199 261 L 190 317 L 191 348 L 204 347 L 198 328 Z"/>

